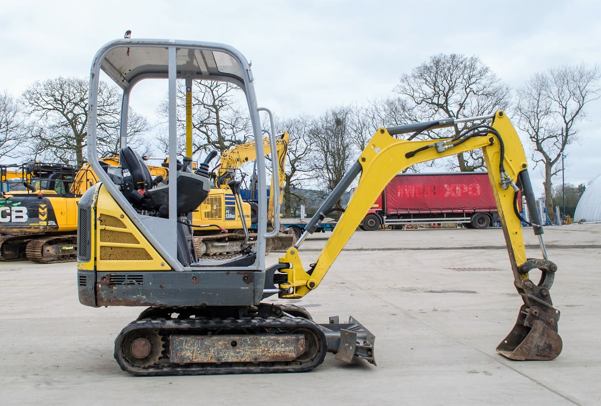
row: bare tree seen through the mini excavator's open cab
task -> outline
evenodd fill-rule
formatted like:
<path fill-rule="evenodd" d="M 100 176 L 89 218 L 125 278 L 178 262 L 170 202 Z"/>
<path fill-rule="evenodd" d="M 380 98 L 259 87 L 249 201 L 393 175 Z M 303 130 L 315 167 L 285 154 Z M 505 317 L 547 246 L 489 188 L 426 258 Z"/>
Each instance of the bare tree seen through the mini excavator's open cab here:
<path fill-rule="evenodd" d="M 251 119 L 240 106 L 242 90 L 232 83 L 194 80 L 192 85 L 192 154 L 200 151 L 223 152 L 232 145 L 248 142 L 252 135 Z M 186 131 L 186 94 L 183 80 L 177 86 L 178 132 Z M 160 104 L 160 117 L 169 115 L 168 101 Z M 159 137 L 159 146 L 167 150 L 168 138 Z M 185 151 L 185 138 L 178 137 L 178 151 Z"/>

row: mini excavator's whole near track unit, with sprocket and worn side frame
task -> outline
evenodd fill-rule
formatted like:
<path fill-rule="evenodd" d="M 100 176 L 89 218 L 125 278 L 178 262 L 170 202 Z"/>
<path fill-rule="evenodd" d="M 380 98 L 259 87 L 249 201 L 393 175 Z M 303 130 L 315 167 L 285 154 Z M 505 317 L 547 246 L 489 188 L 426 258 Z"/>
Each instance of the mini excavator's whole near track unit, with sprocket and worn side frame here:
<path fill-rule="evenodd" d="M 270 355 L 275 351 L 275 346 L 271 346 L 267 351 L 263 351 L 264 347 L 254 350 L 256 352 L 251 356 L 259 360 L 257 362 L 199 362 L 199 353 L 195 354 L 194 348 L 195 341 L 205 341 L 210 351 L 204 351 L 200 356 L 219 361 L 236 356 L 237 350 L 233 350 L 236 341 L 231 337 L 238 341 L 258 338 L 281 344 L 285 339 L 298 339 L 299 336 L 304 337 L 301 340 L 304 343 L 301 351 L 304 352 L 291 360 L 279 360 L 281 356 Z M 186 340 L 188 344 L 185 344 Z M 185 347 L 189 342 L 192 347 Z M 248 349 L 246 351 L 248 353 Z M 117 363 L 123 371 L 138 376 L 304 372 L 320 365 L 327 351 L 328 343 L 318 324 L 304 318 L 288 317 L 145 318 L 128 324 L 115 339 Z M 182 357 L 192 357 L 192 361 L 183 362 Z M 273 358 L 266 360 L 265 357 Z"/>

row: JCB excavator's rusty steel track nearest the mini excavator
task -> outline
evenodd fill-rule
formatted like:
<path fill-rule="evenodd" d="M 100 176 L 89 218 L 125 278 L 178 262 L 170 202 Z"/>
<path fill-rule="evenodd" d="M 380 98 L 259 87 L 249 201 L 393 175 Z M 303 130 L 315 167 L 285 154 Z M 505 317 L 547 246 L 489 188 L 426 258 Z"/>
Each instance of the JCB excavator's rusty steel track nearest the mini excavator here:
<path fill-rule="evenodd" d="M 63 247 L 66 246 L 66 247 Z M 65 249 L 66 248 L 66 249 Z M 72 262 L 77 260 L 77 235 L 53 235 L 34 238 L 25 249 L 27 259 L 40 264 Z"/>

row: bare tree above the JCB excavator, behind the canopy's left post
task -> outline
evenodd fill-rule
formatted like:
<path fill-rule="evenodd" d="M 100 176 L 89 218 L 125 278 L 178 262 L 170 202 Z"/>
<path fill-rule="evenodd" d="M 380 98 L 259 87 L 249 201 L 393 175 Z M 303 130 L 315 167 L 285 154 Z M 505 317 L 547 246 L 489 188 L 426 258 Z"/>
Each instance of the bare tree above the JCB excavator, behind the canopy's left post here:
<path fill-rule="evenodd" d="M 57 77 L 36 81 L 23 92 L 23 103 L 34 115 L 32 153 L 81 167 L 86 160 L 88 124 L 88 80 Z M 119 145 L 121 95 L 117 88 L 99 83 L 97 101 L 97 144 L 99 154 L 115 154 Z M 140 137 L 148 129 L 144 117 L 132 109 L 127 126 L 128 144 L 144 145 Z M 144 151 L 141 151 L 144 153 Z"/>

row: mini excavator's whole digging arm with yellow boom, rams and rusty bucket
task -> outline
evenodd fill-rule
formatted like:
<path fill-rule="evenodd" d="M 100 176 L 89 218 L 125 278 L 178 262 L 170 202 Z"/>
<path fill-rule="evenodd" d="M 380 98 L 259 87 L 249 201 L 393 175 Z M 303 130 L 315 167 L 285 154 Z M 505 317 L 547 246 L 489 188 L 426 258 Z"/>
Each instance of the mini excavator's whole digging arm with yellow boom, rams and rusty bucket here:
<path fill-rule="evenodd" d="M 442 125 L 439 122 L 420 124 L 421 127 L 411 124 L 410 126 L 415 128 L 410 130 L 423 129 L 424 124 L 438 127 L 453 125 L 452 122 Z M 350 169 L 349 178 L 343 180 L 340 186 L 341 189 L 346 189 L 361 172 L 358 186 L 314 267 L 304 269 L 298 255 L 298 247 L 307 233 L 313 232 L 319 226 L 320 217 L 328 213 L 330 200 L 335 201 L 340 196 L 330 196 L 326 199 L 316 216 L 308 223 L 307 231 L 297 241 L 296 246 L 288 249 L 285 256 L 279 259 L 279 262 L 288 266 L 279 270 L 287 273 L 287 281 L 279 284 L 279 297 L 301 298 L 319 286 L 332 262 L 355 232 L 377 196 L 398 172 L 416 163 L 480 148 L 501 219 L 514 284 L 524 301 L 516 326 L 504 342 L 499 344 L 497 350 L 513 359 L 545 359 L 545 356 L 540 356 L 540 348 L 532 347 L 534 343 L 543 342 L 549 349 L 549 354 L 553 354 L 548 359 L 557 357 L 561 351 L 561 338 L 557 335 L 559 312 L 553 308 L 549 294 L 557 266 L 546 258 L 542 241 L 543 229 L 540 219 L 536 218 L 538 211 L 532 209 L 532 226 L 539 237 L 544 259 L 526 258 L 521 218 L 516 209 L 517 185 L 520 184 L 523 186 L 529 208 L 534 207 L 534 195 L 526 171 L 526 156 L 519 136 L 504 112 L 496 112 L 492 126 L 487 128 L 490 130 L 486 129 L 462 139 L 427 141 L 399 140 L 393 138 L 387 129 L 379 129 L 362 151 L 358 162 Z M 334 190 L 332 195 L 337 192 L 340 191 Z M 536 268 L 542 271 L 542 279 L 538 284 L 529 280 L 528 275 L 530 270 Z M 531 330 L 536 338 L 528 336 Z M 523 342 L 527 341 L 526 336 L 530 339 L 529 344 L 532 344 L 529 347 L 523 345 Z"/>

